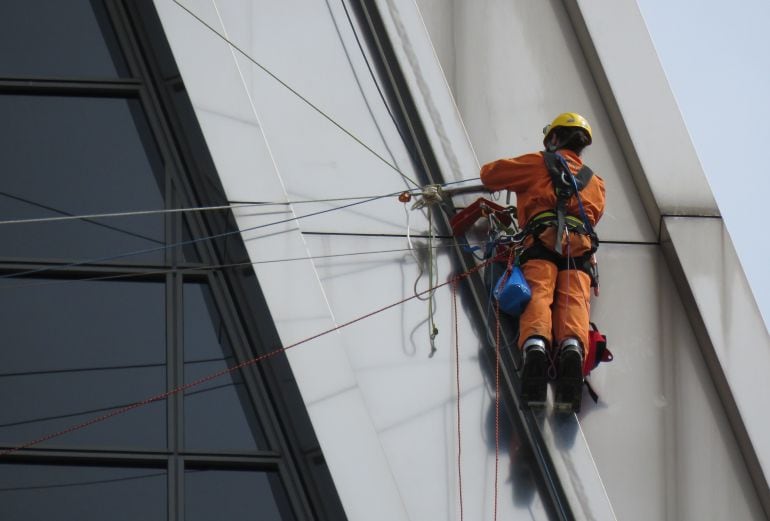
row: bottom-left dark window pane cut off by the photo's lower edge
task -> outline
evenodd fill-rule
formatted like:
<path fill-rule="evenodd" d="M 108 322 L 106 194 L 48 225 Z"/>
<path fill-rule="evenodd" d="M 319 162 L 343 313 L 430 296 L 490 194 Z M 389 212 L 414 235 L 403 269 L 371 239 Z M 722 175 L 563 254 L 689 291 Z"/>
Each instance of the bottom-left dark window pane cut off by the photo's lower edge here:
<path fill-rule="evenodd" d="M 0 464 L 0 517 L 165 520 L 166 474 L 159 468 Z"/>

